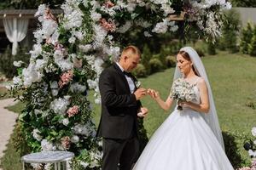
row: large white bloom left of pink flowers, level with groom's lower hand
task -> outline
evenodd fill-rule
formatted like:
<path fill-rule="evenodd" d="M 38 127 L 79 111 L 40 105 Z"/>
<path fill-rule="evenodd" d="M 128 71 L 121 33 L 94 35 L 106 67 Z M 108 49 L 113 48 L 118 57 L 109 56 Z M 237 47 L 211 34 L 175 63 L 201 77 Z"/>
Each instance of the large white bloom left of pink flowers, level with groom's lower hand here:
<path fill-rule="evenodd" d="M 67 99 L 55 99 L 50 103 L 49 108 L 55 111 L 56 114 L 66 114 L 67 105 L 69 105 L 69 101 Z"/>

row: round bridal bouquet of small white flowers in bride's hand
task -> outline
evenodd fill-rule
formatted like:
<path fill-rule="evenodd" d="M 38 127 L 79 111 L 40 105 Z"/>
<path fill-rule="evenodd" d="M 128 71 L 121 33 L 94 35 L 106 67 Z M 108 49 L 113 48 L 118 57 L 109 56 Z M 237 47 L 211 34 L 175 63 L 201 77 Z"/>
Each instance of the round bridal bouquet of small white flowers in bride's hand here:
<path fill-rule="evenodd" d="M 189 84 L 183 78 L 178 78 L 172 84 L 170 97 L 179 101 L 192 101 L 195 99 L 195 85 Z M 183 111 L 183 107 L 178 105 L 177 110 Z"/>

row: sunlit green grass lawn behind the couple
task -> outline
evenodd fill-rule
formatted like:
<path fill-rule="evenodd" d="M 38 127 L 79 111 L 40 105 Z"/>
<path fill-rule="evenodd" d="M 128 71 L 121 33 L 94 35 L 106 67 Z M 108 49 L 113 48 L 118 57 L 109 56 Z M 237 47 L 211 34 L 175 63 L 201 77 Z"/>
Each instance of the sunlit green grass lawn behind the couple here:
<path fill-rule="evenodd" d="M 249 98 L 256 94 L 256 58 L 220 52 L 218 55 L 204 57 L 202 61 L 212 86 L 221 128 L 228 132 L 251 135 L 251 128 L 256 126 L 256 110 L 247 107 L 246 104 Z M 163 99 L 166 99 L 172 86 L 173 72 L 174 68 L 168 69 L 147 78 L 140 78 L 139 81 L 142 82 L 143 88 L 154 88 L 160 92 Z M 144 126 L 148 131 L 148 137 L 151 137 L 172 110 L 167 112 L 161 110 L 149 96 L 142 101 L 149 110 Z M 21 107 L 22 105 L 16 105 L 11 109 L 21 111 Z M 94 107 L 96 124 L 98 124 L 100 106 L 94 105 Z M 240 150 L 243 150 L 242 146 Z M 247 157 L 246 151 L 241 152 Z"/>

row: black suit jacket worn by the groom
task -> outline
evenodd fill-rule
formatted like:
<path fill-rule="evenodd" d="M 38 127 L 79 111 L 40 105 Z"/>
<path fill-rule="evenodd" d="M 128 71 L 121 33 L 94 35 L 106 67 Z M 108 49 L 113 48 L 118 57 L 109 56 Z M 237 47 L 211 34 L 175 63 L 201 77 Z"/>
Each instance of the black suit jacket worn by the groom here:
<path fill-rule="evenodd" d="M 131 77 L 136 82 L 135 77 Z M 136 86 L 135 86 L 136 87 Z M 137 112 L 141 102 L 131 94 L 129 84 L 119 66 L 113 64 L 99 79 L 102 96 L 102 116 L 97 136 L 110 139 L 128 139 L 137 135 Z"/>

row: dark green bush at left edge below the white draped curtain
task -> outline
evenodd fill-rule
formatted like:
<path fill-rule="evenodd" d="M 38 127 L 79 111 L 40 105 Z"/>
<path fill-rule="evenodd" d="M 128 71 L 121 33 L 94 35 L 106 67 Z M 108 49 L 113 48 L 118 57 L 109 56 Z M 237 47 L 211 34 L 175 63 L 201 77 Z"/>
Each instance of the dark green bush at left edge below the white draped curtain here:
<path fill-rule="evenodd" d="M 16 55 L 12 55 L 11 48 L 6 48 L 3 54 L 0 54 L 0 71 L 3 72 L 5 77 L 12 78 L 18 75 L 17 68 L 14 61 L 23 61 L 25 65 L 29 62 L 29 54 L 27 48 L 20 48 Z"/>

